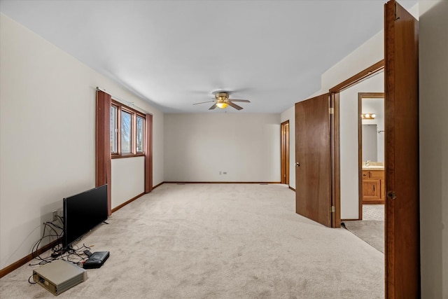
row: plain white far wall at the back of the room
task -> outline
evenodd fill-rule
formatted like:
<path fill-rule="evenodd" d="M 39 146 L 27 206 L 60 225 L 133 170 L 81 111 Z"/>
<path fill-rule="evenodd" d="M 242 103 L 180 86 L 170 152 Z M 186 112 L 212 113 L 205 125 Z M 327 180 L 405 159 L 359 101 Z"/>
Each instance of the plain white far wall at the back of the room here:
<path fill-rule="evenodd" d="M 165 181 L 279 182 L 280 114 L 165 114 Z"/>

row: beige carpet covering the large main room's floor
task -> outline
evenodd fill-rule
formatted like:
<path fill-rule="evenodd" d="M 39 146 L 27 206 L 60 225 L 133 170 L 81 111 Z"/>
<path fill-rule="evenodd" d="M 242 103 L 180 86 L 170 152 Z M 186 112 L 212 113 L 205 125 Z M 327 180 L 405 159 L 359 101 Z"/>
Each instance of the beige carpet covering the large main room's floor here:
<path fill-rule="evenodd" d="M 110 251 L 58 298 L 384 298 L 384 255 L 295 214 L 284 185 L 164 184 L 80 244 Z M 24 265 L 0 298 L 55 298 Z"/>

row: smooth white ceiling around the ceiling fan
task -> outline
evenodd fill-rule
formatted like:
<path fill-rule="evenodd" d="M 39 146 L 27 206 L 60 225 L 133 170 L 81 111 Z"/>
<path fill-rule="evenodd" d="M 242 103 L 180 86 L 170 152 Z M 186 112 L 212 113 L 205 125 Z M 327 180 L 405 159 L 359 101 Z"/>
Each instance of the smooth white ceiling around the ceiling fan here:
<path fill-rule="evenodd" d="M 281 113 L 383 27 L 385 1 L 1 1 L 1 12 L 165 113 L 229 90 Z M 400 1 L 409 8 L 416 1 Z"/>

